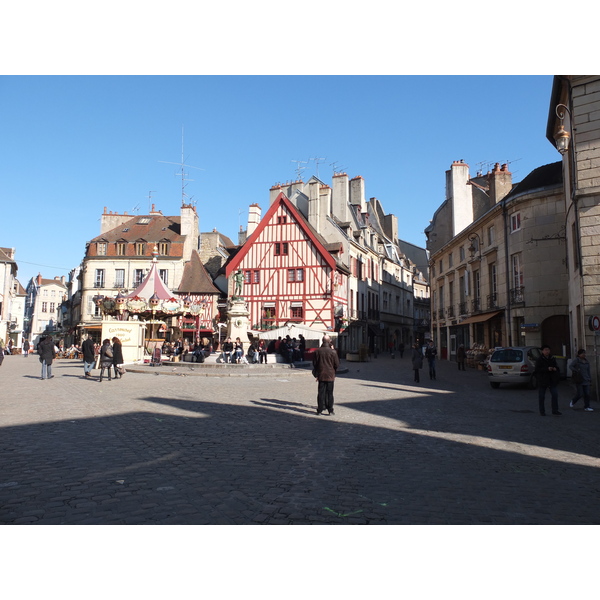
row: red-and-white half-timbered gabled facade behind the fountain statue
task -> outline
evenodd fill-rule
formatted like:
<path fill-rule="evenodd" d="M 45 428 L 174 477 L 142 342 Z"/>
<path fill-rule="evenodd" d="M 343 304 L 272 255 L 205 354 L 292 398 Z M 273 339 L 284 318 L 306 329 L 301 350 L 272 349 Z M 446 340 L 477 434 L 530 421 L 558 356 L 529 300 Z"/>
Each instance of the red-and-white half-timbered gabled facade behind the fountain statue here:
<path fill-rule="evenodd" d="M 238 269 L 253 329 L 291 321 L 333 330 L 335 307 L 347 304 L 346 275 L 283 193 L 227 265 L 227 278 Z"/>

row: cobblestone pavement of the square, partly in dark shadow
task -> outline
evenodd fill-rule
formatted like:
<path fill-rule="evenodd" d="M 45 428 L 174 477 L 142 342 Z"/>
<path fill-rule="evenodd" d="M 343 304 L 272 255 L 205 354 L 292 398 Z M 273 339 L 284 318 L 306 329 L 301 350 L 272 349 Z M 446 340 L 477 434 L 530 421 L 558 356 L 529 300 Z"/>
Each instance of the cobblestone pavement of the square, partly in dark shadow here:
<path fill-rule="evenodd" d="M 60 360 L 42 381 L 37 356 L 6 357 L 0 523 L 600 523 L 600 410 L 570 409 L 570 384 L 542 418 L 535 391 L 454 363 L 420 384 L 406 356 L 342 364 L 317 416 L 309 370 L 99 383 Z"/>

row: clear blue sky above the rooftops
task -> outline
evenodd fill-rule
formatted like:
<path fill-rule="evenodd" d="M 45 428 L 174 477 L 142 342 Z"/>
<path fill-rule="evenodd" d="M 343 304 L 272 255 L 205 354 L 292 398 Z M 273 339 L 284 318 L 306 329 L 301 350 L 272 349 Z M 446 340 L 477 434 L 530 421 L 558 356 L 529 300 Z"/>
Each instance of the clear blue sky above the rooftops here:
<path fill-rule="evenodd" d="M 4 76 L 0 245 L 17 249 L 26 284 L 77 266 L 105 206 L 178 214 L 181 169 L 168 163 L 183 132 L 201 231 L 236 241 L 248 206 L 266 211 L 269 188 L 307 161 L 305 180 L 362 175 L 400 237 L 424 246 L 453 160 L 472 174 L 508 161 L 514 181 L 559 160 L 551 87 L 550 75 Z"/>

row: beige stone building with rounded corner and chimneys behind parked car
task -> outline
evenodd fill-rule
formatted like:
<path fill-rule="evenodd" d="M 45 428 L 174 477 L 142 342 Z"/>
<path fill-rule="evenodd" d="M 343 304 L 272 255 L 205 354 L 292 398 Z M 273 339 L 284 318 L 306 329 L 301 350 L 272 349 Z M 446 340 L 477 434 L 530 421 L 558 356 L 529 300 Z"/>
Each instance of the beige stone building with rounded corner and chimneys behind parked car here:
<path fill-rule="evenodd" d="M 570 355 L 565 207 L 560 163 L 513 185 L 507 165 L 471 178 L 456 161 L 446 201 L 425 230 L 432 335 L 441 358 L 460 344 L 548 343 Z"/>

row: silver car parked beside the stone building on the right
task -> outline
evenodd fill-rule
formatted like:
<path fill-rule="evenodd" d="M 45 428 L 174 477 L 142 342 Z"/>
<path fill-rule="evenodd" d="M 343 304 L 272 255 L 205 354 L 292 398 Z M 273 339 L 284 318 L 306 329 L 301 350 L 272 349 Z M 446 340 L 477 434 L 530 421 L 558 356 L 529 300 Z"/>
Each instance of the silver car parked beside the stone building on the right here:
<path fill-rule="evenodd" d="M 488 377 L 493 388 L 501 383 L 520 383 L 537 388 L 535 361 L 542 351 L 536 346 L 496 348 L 488 361 Z"/>

